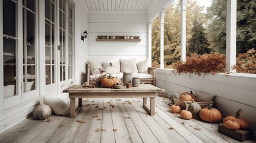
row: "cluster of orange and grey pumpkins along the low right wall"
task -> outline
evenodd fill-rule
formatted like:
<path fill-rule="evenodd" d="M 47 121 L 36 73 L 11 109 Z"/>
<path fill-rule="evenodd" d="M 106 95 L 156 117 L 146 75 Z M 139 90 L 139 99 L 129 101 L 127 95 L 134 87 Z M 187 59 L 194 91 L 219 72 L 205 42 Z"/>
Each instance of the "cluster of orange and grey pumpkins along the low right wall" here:
<path fill-rule="evenodd" d="M 193 93 L 183 92 L 182 94 L 174 93 L 172 98 L 180 98 L 184 101 L 192 101 L 186 108 L 186 110 L 181 110 L 180 105 L 173 104 L 170 107 L 170 111 L 173 113 L 180 113 L 180 117 L 183 119 L 192 119 L 193 116 L 198 116 L 205 122 L 208 123 L 217 123 L 222 119 L 220 111 L 212 107 L 210 104 L 208 107 L 201 108 L 197 102 Z M 240 117 L 242 109 L 239 109 L 235 116 L 227 116 L 223 119 L 224 126 L 228 129 L 237 130 L 237 129 L 248 129 L 249 122 L 246 119 Z"/>

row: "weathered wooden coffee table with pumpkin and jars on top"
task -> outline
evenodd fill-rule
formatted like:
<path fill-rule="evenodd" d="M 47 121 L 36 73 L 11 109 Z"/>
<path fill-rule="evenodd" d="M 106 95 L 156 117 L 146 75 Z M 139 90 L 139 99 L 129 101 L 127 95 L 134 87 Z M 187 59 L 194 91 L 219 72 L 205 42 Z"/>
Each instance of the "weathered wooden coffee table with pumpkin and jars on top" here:
<path fill-rule="evenodd" d="M 69 93 L 70 117 L 75 117 L 82 108 L 82 98 L 143 98 L 143 107 L 155 116 L 155 97 L 162 89 L 153 85 L 140 85 L 140 87 L 121 89 L 114 88 L 82 88 L 82 85 L 73 85 L 63 92 Z M 75 100 L 78 98 L 78 108 L 75 109 Z M 150 98 L 150 109 L 147 107 L 147 98 Z"/>

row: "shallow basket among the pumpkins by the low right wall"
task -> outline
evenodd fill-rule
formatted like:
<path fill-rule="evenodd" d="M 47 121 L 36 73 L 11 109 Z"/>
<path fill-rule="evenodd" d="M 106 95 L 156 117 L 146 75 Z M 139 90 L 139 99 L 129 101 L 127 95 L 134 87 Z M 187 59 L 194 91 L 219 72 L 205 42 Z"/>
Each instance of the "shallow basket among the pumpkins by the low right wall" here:
<path fill-rule="evenodd" d="M 202 100 L 202 99 L 199 99 L 199 98 L 196 98 L 196 102 L 201 105 L 201 108 L 205 108 L 205 107 L 208 107 L 210 104 L 213 104 L 214 101 L 211 101 L 211 100 Z M 180 105 L 180 107 L 182 109 L 186 109 L 186 103 L 187 104 L 190 104 L 192 103 L 192 101 L 184 101 L 184 100 L 181 100 L 181 99 L 175 99 L 174 98 L 174 104 L 175 105 Z"/>

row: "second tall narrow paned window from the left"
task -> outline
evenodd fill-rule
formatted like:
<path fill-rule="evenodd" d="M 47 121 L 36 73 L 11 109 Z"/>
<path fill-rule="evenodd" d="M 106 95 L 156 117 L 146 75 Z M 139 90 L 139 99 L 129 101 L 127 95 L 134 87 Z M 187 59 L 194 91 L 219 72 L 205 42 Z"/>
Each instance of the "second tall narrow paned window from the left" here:
<path fill-rule="evenodd" d="M 35 1 L 23 0 L 23 92 L 36 89 Z"/>

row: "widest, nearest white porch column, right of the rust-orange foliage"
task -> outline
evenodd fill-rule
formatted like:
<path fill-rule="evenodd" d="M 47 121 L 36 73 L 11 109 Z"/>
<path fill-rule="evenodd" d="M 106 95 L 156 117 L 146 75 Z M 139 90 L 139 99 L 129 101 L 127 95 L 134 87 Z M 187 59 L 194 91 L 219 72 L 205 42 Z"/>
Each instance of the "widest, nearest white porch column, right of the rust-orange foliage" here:
<path fill-rule="evenodd" d="M 236 64 L 236 1 L 227 0 L 226 70 L 235 73 Z"/>

